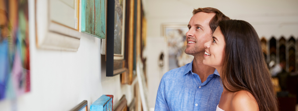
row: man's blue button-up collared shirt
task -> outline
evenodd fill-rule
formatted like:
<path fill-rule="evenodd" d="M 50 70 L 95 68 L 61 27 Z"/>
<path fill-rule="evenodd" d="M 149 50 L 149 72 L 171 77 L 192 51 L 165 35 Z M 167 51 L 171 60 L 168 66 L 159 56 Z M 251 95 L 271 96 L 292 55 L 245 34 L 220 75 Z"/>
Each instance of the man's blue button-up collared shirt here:
<path fill-rule="evenodd" d="M 217 70 L 203 83 L 193 62 L 165 73 L 159 83 L 155 111 L 215 111 L 223 88 Z"/>

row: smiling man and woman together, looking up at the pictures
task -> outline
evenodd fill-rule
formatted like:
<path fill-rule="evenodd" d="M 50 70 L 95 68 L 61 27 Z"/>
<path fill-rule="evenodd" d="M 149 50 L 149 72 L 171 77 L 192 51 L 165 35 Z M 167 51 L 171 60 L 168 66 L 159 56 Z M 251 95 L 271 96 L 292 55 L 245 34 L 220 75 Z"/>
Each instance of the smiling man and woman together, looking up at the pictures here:
<path fill-rule="evenodd" d="M 215 8 L 193 10 L 186 54 L 193 62 L 165 73 L 156 111 L 277 111 L 260 39 L 248 22 Z"/>

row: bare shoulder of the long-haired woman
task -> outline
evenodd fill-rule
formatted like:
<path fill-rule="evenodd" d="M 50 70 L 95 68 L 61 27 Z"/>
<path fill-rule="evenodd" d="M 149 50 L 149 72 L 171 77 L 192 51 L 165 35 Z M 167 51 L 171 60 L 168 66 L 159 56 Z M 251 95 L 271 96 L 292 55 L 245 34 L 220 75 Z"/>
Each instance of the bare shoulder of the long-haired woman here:
<path fill-rule="evenodd" d="M 244 90 L 233 94 L 231 108 L 234 111 L 259 111 L 259 107 L 254 96 Z"/>

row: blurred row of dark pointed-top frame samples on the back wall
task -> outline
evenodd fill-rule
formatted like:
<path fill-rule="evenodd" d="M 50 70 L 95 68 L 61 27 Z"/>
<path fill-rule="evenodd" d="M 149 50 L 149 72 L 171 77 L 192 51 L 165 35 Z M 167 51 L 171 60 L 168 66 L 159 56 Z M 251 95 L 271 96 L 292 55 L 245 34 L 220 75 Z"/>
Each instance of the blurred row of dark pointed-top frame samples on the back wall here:
<path fill-rule="evenodd" d="M 261 38 L 262 50 L 269 68 L 277 64 L 285 64 L 282 68 L 289 73 L 297 73 L 298 69 L 298 43 L 297 38 L 291 36 L 286 39 L 271 37 L 266 40 Z"/>

